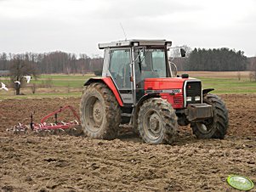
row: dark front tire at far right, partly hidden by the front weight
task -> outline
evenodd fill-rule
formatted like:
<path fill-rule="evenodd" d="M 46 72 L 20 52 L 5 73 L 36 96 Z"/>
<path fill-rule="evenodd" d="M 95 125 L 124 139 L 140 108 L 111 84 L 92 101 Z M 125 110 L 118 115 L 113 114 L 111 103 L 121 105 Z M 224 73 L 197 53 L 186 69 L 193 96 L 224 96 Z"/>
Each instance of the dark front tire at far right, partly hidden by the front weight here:
<path fill-rule="evenodd" d="M 196 138 L 224 138 L 229 127 L 228 110 L 225 104 L 217 95 L 206 94 L 203 102 L 213 106 L 213 118 L 191 123 Z"/>

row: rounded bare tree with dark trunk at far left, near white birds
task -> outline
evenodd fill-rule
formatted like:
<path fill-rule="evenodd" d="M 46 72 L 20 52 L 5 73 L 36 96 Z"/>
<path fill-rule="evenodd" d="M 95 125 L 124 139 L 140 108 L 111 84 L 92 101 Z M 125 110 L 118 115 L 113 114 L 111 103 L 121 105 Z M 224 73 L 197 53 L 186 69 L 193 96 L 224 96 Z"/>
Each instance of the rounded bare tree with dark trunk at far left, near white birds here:
<path fill-rule="evenodd" d="M 33 76 L 34 78 L 37 78 L 37 68 L 30 56 L 30 54 L 14 54 L 11 59 L 9 69 L 10 80 L 14 85 L 16 95 L 20 94 L 20 88 L 24 82 L 26 82 L 24 76 Z M 14 83 L 15 81 L 20 83 Z"/>

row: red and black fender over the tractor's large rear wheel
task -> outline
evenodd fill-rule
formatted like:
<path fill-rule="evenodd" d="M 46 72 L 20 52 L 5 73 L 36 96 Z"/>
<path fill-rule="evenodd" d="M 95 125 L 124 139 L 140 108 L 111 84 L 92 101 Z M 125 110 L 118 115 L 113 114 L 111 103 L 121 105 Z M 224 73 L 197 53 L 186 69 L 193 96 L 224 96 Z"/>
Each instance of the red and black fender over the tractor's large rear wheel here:
<path fill-rule="evenodd" d="M 105 83 L 105 85 L 111 89 L 111 92 L 114 93 L 117 102 L 120 106 L 123 106 L 123 102 L 122 99 L 120 97 L 120 93 L 117 91 L 117 87 L 114 84 L 114 82 L 112 81 L 111 77 L 93 77 L 93 78 L 89 78 L 87 82 L 85 82 L 83 85 L 84 86 L 88 86 L 89 84 L 93 83 L 93 82 L 103 82 Z"/>

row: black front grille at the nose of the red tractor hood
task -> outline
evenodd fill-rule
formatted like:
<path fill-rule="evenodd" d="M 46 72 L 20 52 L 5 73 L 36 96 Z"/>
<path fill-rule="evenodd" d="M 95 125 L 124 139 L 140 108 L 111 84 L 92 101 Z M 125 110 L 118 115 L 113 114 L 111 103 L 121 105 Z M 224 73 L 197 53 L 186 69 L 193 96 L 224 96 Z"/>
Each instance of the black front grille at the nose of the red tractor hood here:
<path fill-rule="evenodd" d="M 202 103 L 202 83 L 187 82 L 185 86 L 185 95 L 191 97 L 191 101 L 186 101 L 186 104 L 201 104 Z M 200 100 L 196 101 L 195 97 L 200 96 Z M 185 99 L 186 99 L 185 98 Z"/>

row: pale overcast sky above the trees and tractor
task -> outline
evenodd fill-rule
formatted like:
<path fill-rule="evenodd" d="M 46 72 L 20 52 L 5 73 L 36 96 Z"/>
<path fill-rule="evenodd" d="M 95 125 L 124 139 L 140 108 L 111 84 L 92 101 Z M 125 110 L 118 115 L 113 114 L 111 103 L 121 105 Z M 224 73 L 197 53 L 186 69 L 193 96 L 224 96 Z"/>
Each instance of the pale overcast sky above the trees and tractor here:
<path fill-rule="evenodd" d="M 0 0 L 0 53 L 102 55 L 99 42 L 167 39 L 174 46 L 256 55 L 254 0 Z"/>

